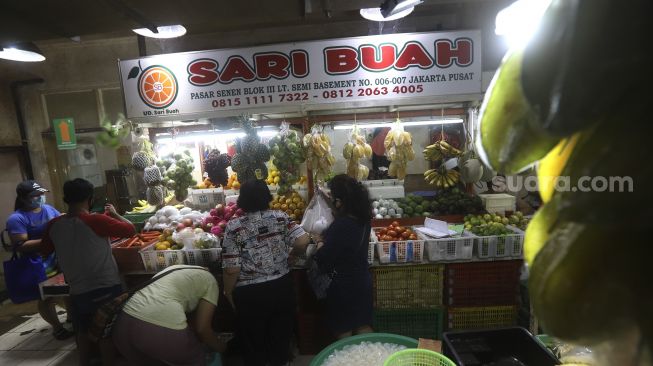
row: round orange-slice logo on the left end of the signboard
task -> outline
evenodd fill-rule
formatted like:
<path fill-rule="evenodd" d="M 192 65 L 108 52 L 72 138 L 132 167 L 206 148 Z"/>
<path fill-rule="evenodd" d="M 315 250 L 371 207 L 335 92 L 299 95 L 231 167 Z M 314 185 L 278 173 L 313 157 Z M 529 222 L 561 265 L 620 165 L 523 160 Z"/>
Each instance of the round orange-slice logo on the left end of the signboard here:
<path fill-rule="evenodd" d="M 152 108 L 162 109 L 177 98 L 177 78 L 166 67 L 153 65 L 138 78 L 138 95 L 143 103 Z"/>

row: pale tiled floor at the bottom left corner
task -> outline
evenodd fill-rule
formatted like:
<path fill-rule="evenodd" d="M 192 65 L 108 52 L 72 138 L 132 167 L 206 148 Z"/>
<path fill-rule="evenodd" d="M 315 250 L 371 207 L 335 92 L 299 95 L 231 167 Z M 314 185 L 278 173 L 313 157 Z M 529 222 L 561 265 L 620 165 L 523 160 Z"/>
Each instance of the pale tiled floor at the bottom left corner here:
<path fill-rule="evenodd" d="M 65 315 L 61 315 L 64 320 Z M 11 366 L 74 366 L 77 351 L 73 338 L 58 341 L 52 337 L 50 326 L 38 314 L 22 316 L 24 321 L 0 335 L 0 365 Z M 297 356 L 293 366 L 308 366 L 313 356 Z M 238 359 L 230 359 L 225 366 L 241 366 Z"/>

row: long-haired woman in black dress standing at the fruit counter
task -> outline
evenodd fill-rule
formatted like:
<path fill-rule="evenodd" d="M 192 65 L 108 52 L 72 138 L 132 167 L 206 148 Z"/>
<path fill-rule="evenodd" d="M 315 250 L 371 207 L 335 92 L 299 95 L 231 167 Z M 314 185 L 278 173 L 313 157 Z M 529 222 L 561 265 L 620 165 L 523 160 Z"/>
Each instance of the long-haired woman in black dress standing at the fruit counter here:
<path fill-rule="evenodd" d="M 372 205 L 362 183 L 345 174 L 329 182 L 333 223 L 318 242 L 315 261 L 332 273 L 327 290 L 329 327 L 338 338 L 372 332 L 372 277 L 367 262 Z M 321 245 L 322 244 L 322 245 Z"/>

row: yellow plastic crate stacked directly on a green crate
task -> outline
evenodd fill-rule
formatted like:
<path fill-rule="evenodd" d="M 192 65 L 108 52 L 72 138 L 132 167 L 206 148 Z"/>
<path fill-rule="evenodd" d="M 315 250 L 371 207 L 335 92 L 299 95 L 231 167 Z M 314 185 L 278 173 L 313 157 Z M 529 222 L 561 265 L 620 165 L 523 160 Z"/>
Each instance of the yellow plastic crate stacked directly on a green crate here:
<path fill-rule="evenodd" d="M 425 309 L 442 305 L 444 266 L 391 266 L 372 269 L 375 309 Z"/>

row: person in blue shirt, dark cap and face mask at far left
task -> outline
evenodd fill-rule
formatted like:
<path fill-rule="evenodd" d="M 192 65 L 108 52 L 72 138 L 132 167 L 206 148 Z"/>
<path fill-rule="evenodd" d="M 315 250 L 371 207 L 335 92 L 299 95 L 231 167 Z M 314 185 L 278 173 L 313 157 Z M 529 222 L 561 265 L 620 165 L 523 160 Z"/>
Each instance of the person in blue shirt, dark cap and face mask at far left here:
<path fill-rule="evenodd" d="M 41 249 L 41 237 L 48 222 L 61 213 L 45 203 L 45 192 L 49 192 L 33 180 L 21 182 L 16 187 L 14 213 L 7 219 L 7 231 L 11 243 L 23 255 L 38 256 Z M 43 258 L 43 266 L 48 276 L 56 274 L 54 253 Z M 53 298 L 38 300 L 39 314 L 53 329 L 56 339 L 66 339 L 73 335 L 59 321 Z"/>

